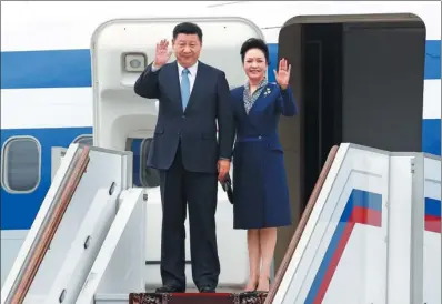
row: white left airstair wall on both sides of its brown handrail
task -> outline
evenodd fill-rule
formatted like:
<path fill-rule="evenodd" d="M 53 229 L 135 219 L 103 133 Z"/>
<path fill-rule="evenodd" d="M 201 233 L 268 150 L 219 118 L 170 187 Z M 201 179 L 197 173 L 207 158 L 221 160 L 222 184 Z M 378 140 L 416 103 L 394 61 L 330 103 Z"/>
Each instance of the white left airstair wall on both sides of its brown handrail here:
<path fill-rule="evenodd" d="M 4 284 L 2 288 L 2 303 L 6 303 L 7 295 L 11 291 L 13 282 L 20 277 L 19 272 L 22 268 L 24 259 L 31 252 L 30 245 L 37 240 L 36 236 L 40 233 L 42 221 L 53 209 L 53 197 L 62 189 L 61 181 L 64 179 L 63 174 L 67 172 L 73 154 L 79 149 L 81 148 L 78 144 L 72 144 L 61 162 L 51 189 L 38 213 L 37 219 L 41 220 L 34 222 L 33 230 L 27 235 L 20 249 L 19 256 L 7 278 L 8 285 Z M 44 259 L 29 288 L 24 303 L 37 303 L 36 298 L 44 298 L 49 294 L 98 189 L 106 188 L 109 190 L 113 184 L 113 191 L 120 193 L 122 190 L 128 189 L 129 185 L 132 185 L 132 175 L 129 174 L 129 172 L 132 172 L 131 152 L 114 152 L 93 148 L 89 156 L 90 161 L 87 171 L 53 235 L 50 249 L 44 254 Z"/>

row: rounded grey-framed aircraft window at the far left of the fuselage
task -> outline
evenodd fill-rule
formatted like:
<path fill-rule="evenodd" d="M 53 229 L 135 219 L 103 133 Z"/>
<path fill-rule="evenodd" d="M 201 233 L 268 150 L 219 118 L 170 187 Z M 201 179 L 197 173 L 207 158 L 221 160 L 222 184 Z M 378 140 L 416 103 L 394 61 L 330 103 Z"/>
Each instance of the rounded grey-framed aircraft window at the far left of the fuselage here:
<path fill-rule="evenodd" d="M 32 192 L 40 183 L 41 146 L 30 136 L 9 139 L 2 150 L 1 183 L 9 192 Z"/>

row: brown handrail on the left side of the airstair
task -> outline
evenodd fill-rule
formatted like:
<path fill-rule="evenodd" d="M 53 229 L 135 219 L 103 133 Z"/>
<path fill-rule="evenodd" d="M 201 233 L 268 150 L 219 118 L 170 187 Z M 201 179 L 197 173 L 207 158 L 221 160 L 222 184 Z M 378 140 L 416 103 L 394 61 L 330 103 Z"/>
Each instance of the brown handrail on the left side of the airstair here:
<path fill-rule="evenodd" d="M 29 292 L 33 278 L 36 277 L 41 262 L 44 259 L 44 254 L 47 253 L 53 235 L 56 234 L 61 222 L 61 219 L 63 217 L 64 212 L 68 209 L 68 205 L 76 193 L 77 186 L 88 166 L 90 160 L 90 148 L 87 145 L 81 145 L 81 154 L 77 158 L 77 162 L 71 164 L 72 173 L 67 176 L 66 183 L 63 183 L 61 186 L 61 194 L 56 195 L 53 212 L 50 214 L 50 217 L 43 227 L 43 232 L 40 234 L 40 240 L 38 240 L 34 250 L 29 252 L 31 255 L 29 259 L 27 259 L 28 261 L 23 263 L 20 273 L 16 278 L 18 282 L 14 282 L 6 303 L 22 304 Z M 60 197 L 59 202 L 57 202 L 57 197 Z"/>

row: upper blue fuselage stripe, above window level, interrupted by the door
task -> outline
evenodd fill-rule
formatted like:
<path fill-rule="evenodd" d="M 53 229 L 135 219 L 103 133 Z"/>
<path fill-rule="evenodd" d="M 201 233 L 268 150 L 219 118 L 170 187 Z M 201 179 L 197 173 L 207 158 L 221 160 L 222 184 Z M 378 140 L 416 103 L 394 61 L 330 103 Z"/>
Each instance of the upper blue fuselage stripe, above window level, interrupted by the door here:
<path fill-rule="evenodd" d="M 274 80 L 278 44 L 269 43 L 269 78 Z M 441 41 L 428 40 L 424 79 L 441 79 Z M 23 72 L 26 71 L 26 72 Z M 1 89 L 91 87 L 88 49 L 1 52 Z"/>

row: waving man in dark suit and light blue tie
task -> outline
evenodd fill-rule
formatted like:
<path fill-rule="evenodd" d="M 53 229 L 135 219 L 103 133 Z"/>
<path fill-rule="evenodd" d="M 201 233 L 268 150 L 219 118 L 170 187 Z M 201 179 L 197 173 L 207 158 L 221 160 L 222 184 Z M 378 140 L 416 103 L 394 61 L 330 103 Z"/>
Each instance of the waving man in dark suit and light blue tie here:
<path fill-rule="evenodd" d="M 215 292 L 220 274 L 215 210 L 218 180 L 230 169 L 234 139 L 230 91 L 224 72 L 200 62 L 201 29 L 190 22 L 173 29 L 177 61 L 167 63 L 169 42 L 157 44 L 155 59 L 134 91 L 159 100 L 148 166 L 160 170 L 163 207 L 161 276 L 157 292 L 185 292 L 184 221 L 189 204 L 193 282 Z M 217 140 L 218 121 L 218 140 Z"/>

